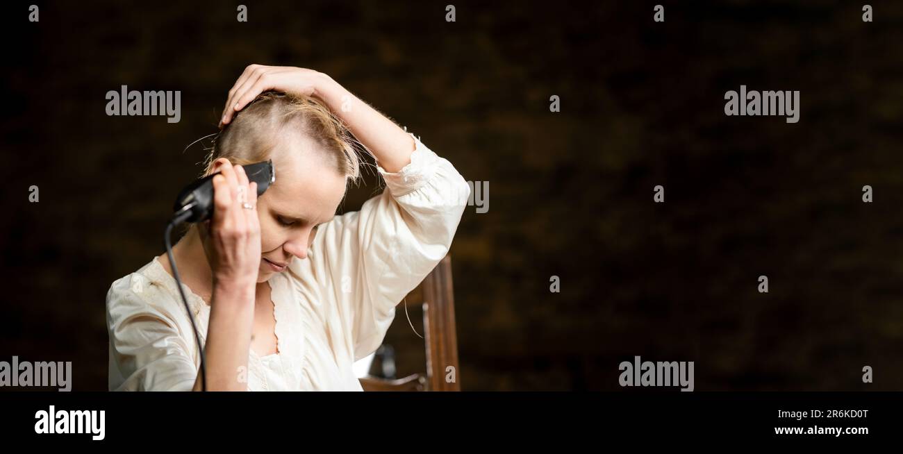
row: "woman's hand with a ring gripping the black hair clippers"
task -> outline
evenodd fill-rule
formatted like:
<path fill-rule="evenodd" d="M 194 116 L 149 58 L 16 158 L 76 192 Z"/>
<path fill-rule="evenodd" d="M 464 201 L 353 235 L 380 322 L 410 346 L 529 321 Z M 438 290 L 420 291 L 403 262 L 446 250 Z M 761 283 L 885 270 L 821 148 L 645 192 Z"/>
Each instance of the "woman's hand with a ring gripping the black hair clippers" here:
<path fill-rule="evenodd" d="M 251 289 L 253 295 L 261 247 L 257 183 L 248 183 L 240 165 L 233 166 L 225 158 L 218 161 L 220 173 L 213 177 L 213 217 L 205 222 L 206 228 L 200 228 L 204 252 L 214 288 Z"/>

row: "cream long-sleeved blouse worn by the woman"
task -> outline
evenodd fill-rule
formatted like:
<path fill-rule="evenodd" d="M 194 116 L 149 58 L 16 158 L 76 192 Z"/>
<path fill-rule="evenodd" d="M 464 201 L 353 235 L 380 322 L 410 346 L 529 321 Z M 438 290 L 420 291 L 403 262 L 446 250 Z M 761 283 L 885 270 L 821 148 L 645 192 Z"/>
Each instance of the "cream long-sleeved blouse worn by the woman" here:
<path fill-rule="evenodd" d="M 352 365 L 373 353 L 396 304 L 442 260 L 470 197 L 451 162 L 420 140 L 387 190 L 322 224 L 307 258 L 267 283 L 278 353 L 248 351 L 249 391 L 361 391 Z M 182 285 L 201 342 L 210 307 Z M 175 279 L 154 257 L 107 292 L 109 389 L 191 391 L 198 346 Z M 246 371 L 239 371 L 246 372 Z"/>

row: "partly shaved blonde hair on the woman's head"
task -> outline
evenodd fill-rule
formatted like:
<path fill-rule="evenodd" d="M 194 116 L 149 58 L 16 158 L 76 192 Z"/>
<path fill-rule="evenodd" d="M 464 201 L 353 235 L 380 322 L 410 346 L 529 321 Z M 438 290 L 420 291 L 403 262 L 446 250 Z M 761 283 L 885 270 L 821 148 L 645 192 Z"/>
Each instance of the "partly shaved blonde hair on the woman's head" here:
<path fill-rule="evenodd" d="M 307 134 L 321 151 L 328 153 L 346 181 L 360 178 L 360 145 L 348 127 L 320 100 L 267 91 L 257 96 L 213 140 L 203 163 L 203 175 L 213 170 L 213 162 L 226 158 L 233 165 L 266 161 L 286 132 Z M 277 169 L 278 174 L 278 169 Z"/>

